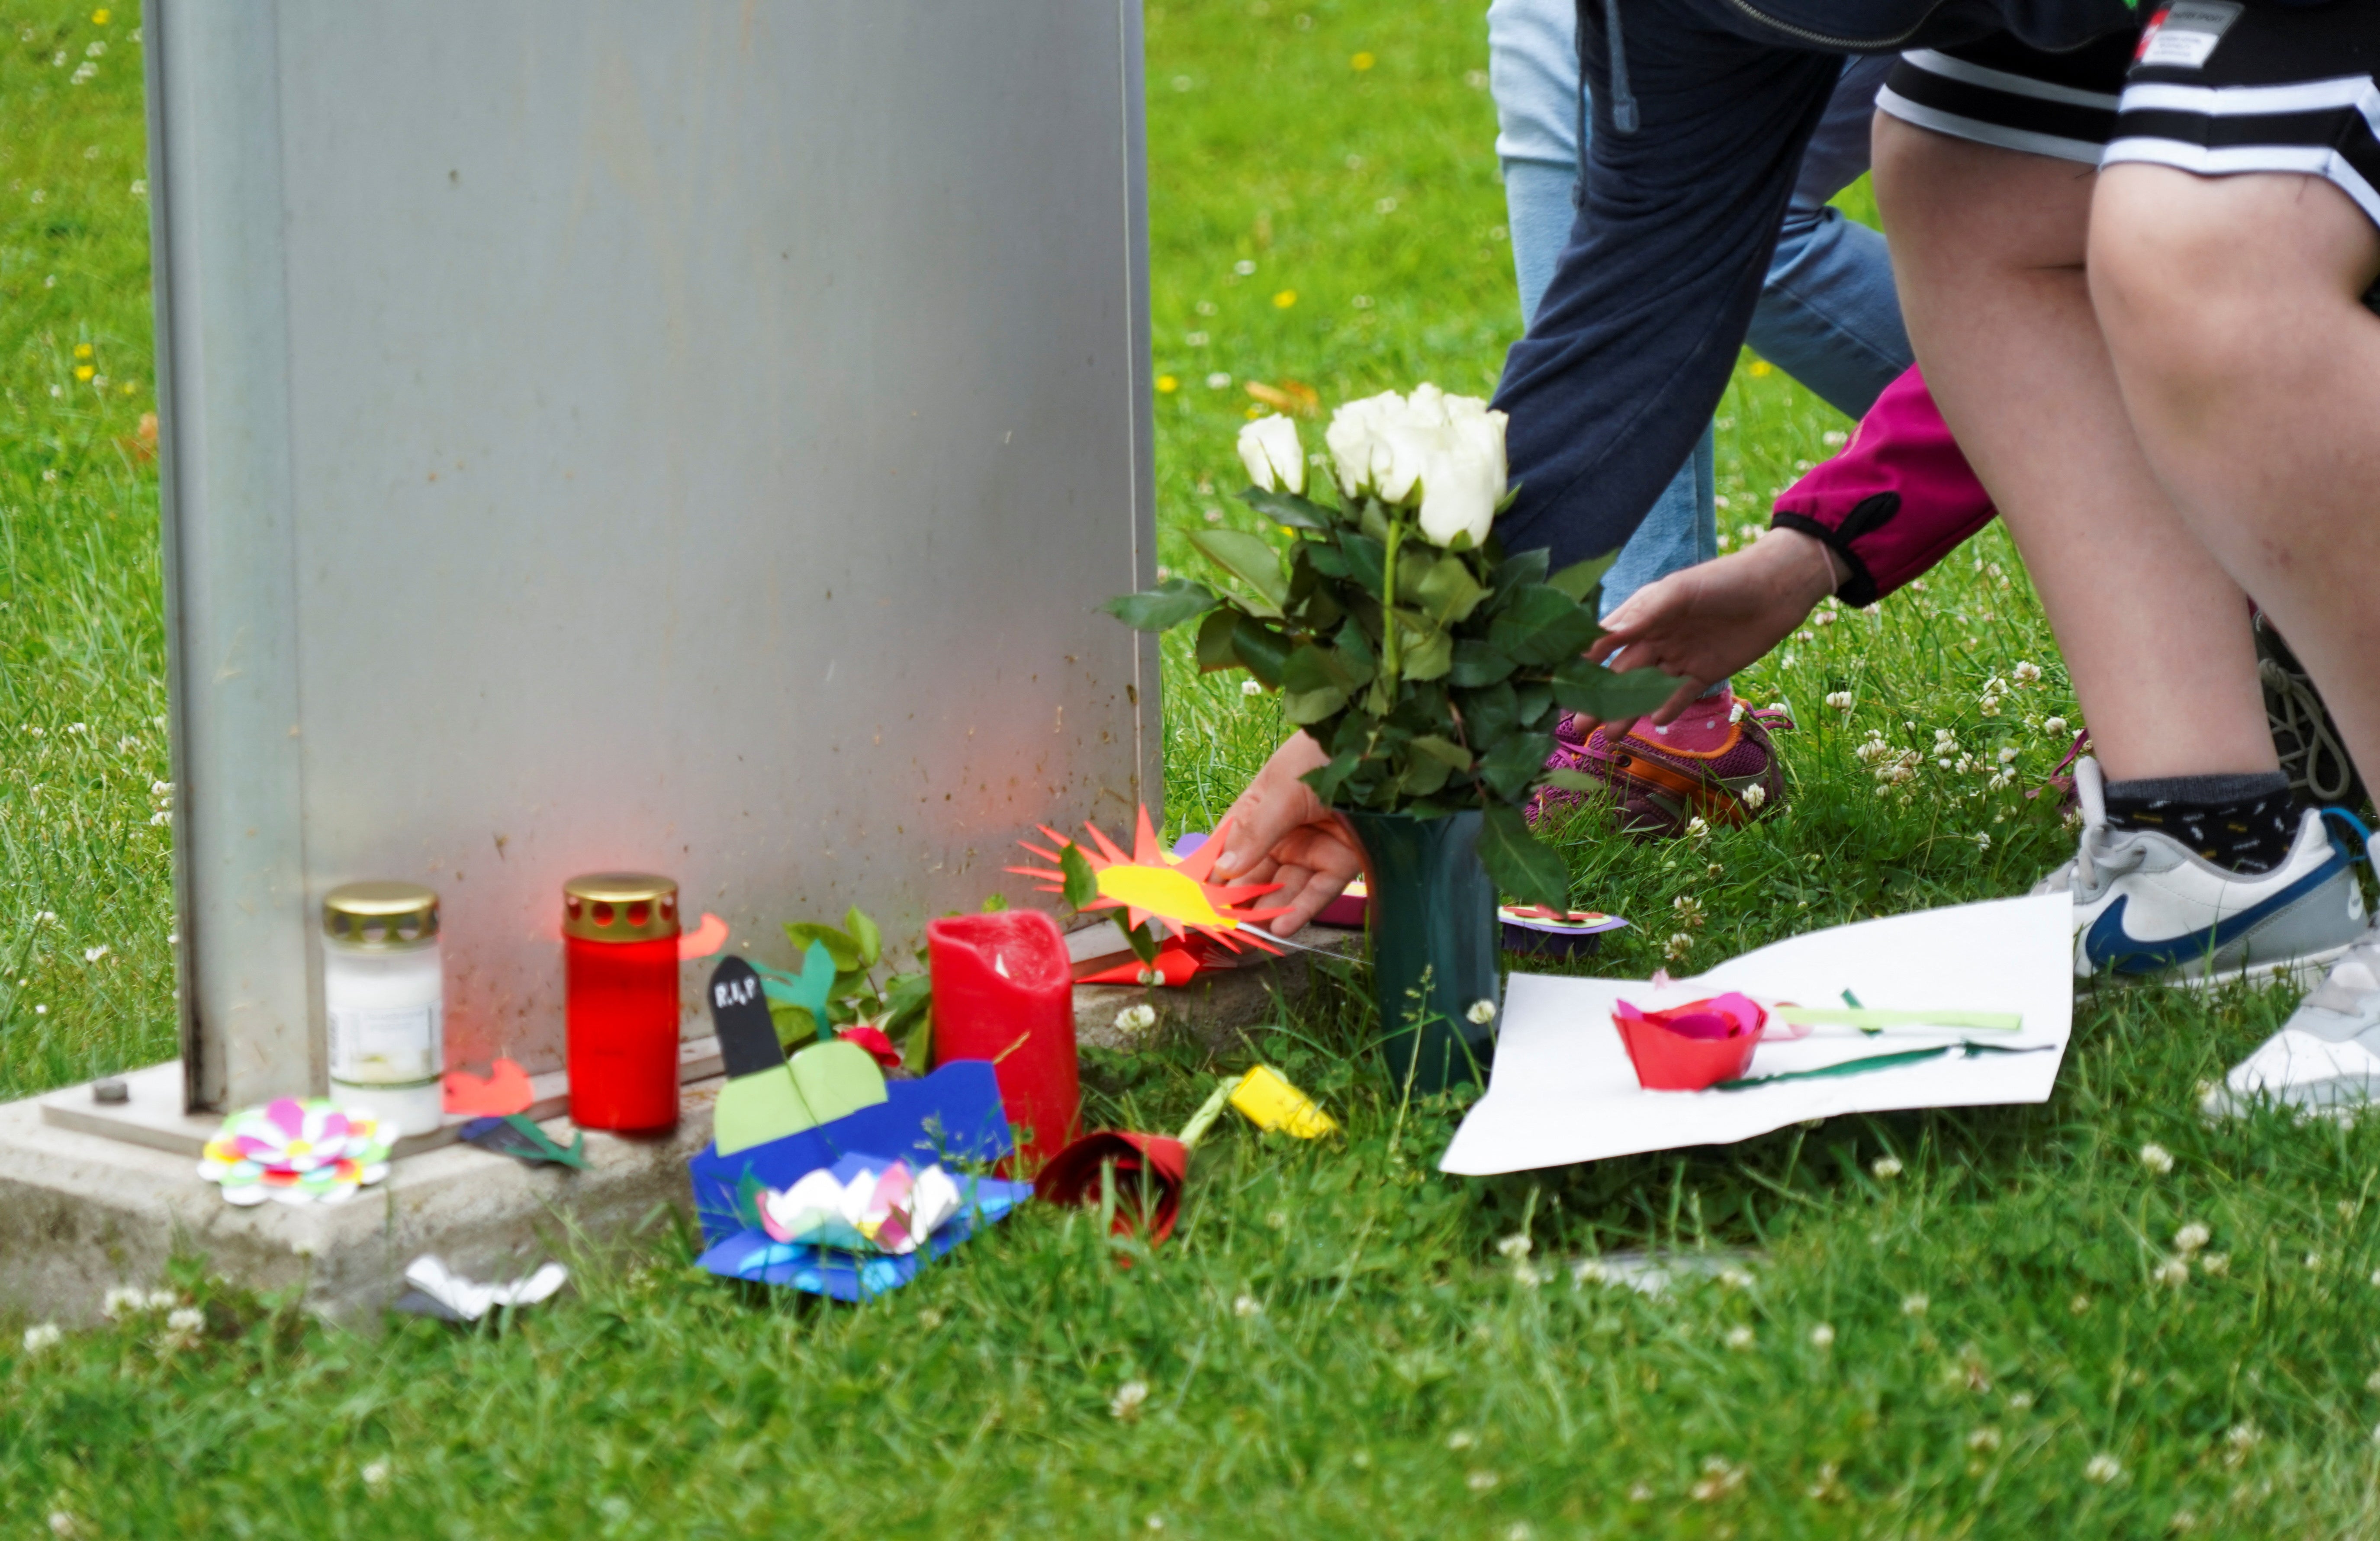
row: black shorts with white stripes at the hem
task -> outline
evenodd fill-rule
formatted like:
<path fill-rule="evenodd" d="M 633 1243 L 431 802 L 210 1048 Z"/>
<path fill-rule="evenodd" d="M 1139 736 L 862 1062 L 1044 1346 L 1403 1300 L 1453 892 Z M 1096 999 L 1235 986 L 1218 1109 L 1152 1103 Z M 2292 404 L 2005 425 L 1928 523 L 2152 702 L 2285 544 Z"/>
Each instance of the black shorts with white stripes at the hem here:
<path fill-rule="evenodd" d="M 2380 0 L 2173 0 L 2073 52 L 2009 33 L 1906 52 L 1878 112 L 2004 150 L 2202 176 L 2301 171 L 2380 224 Z"/>

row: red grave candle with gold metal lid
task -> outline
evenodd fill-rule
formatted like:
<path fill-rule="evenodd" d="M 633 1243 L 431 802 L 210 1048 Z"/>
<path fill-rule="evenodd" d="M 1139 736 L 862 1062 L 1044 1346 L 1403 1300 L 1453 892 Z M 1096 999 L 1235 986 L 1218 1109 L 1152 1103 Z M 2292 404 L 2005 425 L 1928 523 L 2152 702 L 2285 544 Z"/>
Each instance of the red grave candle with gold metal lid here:
<path fill-rule="evenodd" d="M 571 1122 L 678 1122 L 678 886 L 597 872 L 562 886 Z"/>

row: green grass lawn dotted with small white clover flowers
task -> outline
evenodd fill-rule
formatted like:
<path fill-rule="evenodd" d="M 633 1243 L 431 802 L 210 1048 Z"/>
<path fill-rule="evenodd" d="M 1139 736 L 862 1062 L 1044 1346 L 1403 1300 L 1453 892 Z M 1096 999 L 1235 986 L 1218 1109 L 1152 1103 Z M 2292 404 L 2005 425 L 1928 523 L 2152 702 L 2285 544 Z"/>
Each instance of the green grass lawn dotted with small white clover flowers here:
<path fill-rule="evenodd" d="M 169 1055 L 174 924 L 136 17 L 19 12 L 0 1096 Z M 1223 495 L 1250 381 L 1485 393 L 1516 300 L 1476 0 L 1152 0 L 1147 40 L 1161 560 L 1188 569 L 1183 529 L 1254 526 Z M 1747 362 L 1730 529 L 1844 426 Z M 1171 817 L 1204 824 L 1280 722 L 1180 655 L 1166 684 Z M 1790 810 L 1671 846 L 1573 822 L 1580 903 L 1637 922 L 1602 967 L 2016 893 L 2066 855 L 2056 798 L 2025 793 L 2073 698 L 1997 531 L 1740 688 L 1802 722 Z M 1914 781 L 1878 793 L 1873 736 Z M 1223 1124 L 1180 1234 L 1128 1269 L 1028 1208 L 862 1310 L 724 1286 L 664 1227 L 476 1334 L 350 1336 L 200 1260 L 198 1327 L 19 1348 L 17 1319 L 0 1534 L 2368 1534 L 2380 1138 L 2192 1110 L 2287 1007 L 2099 993 L 2044 1108 L 1457 1181 L 1435 1160 L 1461 1108 L 1399 1115 L 1357 1053 L 1366 1007 L 1326 986 L 1252 1053 L 1347 1138 Z M 1090 1117 L 1173 1127 L 1242 1065 L 1095 1055 Z M 2178 1277 L 2185 1224 L 2209 1241 Z M 1747 1260 L 1661 1298 L 1573 1272 L 1633 1248 Z"/>

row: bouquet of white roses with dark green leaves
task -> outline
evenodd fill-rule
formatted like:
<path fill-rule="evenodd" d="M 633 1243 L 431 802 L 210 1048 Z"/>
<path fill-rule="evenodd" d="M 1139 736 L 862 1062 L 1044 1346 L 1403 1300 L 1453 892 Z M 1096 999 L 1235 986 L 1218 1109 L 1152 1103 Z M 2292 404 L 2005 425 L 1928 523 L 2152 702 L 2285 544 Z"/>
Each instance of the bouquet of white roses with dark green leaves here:
<path fill-rule="evenodd" d="M 1659 669 L 1580 657 L 1602 636 L 1597 595 L 1611 557 L 1547 572 L 1545 550 L 1507 555 L 1504 414 L 1416 386 L 1347 403 L 1323 433 L 1338 503 L 1307 495 L 1297 424 L 1240 429 L 1254 486 L 1240 498 L 1290 538 L 1190 531 L 1230 584 L 1169 579 L 1107 610 L 1140 631 L 1200 622 L 1202 669 L 1247 669 L 1280 691 L 1283 715 L 1330 762 L 1307 776 L 1340 810 L 1418 817 L 1485 812 L 1480 860 L 1523 900 L 1564 905 L 1561 857 L 1521 807 L 1545 786 L 1554 712 L 1649 712 L 1678 686 Z"/>

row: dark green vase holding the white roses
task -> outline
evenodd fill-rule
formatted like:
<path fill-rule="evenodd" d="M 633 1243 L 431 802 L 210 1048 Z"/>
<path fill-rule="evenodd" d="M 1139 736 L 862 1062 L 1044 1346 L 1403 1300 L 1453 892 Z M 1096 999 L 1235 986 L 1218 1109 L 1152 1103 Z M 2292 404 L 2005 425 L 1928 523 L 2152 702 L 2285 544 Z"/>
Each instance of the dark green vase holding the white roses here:
<path fill-rule="evenodd" d="M 1416 819 L 1347 812 L 1371 855 L 1371 981 L 1388 1074 L 1416 1093 L 1488 1079 L 1495 1017 L 1471 1022 L 1497 984 L 1495 884 L 1480 867 L 1480 815 Z M 1423 984 L 1426 981 L 1426 984 Z"/>

